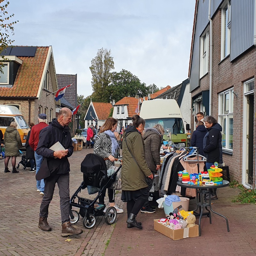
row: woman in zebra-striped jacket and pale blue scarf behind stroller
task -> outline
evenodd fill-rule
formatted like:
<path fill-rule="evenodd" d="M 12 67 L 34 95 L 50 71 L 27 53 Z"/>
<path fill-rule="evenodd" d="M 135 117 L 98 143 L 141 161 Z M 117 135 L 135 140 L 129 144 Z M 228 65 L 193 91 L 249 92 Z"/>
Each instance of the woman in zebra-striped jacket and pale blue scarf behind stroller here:
<path fill-rule="evenodd" d="M 93 147 L 93 153 L 103 158 L 108 158 L 109 160 L 106 161 L 107 169 L 110 168 L 111 165 L 114 164 L 115 156 L 117 153 L 117 149 L 120 148 L 121 140 L 118 132 L 115 132 L 117 127 L 117 120 L 113 117 L 109 117 L 106 122 L 100 128 L 100 132 L 95 140 L 95 144 Z M 104 203 L 105 193 L 99 198 L 100 204 Z M 115 204 L 115 190 L 108 188 L 108 199 L 109 199 L 109 206 L 114 206 L 116 208 L 117 213 L 124 212 L 123 209 L 120 209 Z M 107 207 L 105 208 L 105 210 Z"/>

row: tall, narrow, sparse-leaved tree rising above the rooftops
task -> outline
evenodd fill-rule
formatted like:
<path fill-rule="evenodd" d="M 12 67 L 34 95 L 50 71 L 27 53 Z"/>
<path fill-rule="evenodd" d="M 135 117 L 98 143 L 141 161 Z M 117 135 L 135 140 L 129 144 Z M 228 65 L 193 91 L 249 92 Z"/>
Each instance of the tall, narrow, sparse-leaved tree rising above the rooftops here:
<path fill-rule="evenodd" d="M 111 70 L 114 69 L 111 50 L 99 49 L 90 67 L 92 73 L 92 90 L 94 98 L 99 102 L 108 102 L 108 85 L 110 83 Z"/>

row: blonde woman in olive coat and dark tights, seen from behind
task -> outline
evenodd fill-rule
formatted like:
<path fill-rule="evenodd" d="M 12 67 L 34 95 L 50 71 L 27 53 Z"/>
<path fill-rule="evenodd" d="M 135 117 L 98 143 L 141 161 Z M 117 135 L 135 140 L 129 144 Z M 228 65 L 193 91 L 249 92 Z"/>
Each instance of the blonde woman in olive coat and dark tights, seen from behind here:
<path fill-rule="evenodd" d="M 4 132 L 4 147 L 5 147 L 5 159 L 4 159 L 4 172 L 10 172 L 8 169 L 9 160 L 12 157 L 12 172 L 17 173 L 16 170 L 16 157 L 20 155 L 19 148 L 22 147 L 20 139 L 20 133 L 17 131 L 17 124 L 12 122 L 10 127 L 7 127 Z"/>

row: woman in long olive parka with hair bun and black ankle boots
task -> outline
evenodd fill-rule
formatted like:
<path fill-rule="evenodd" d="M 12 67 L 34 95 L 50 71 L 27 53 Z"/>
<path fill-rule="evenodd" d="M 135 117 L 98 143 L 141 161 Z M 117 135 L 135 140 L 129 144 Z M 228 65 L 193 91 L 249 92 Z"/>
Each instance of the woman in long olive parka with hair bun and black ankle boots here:
<path fill-rule="evenodd" d="M 145 144 L 141 133 L 145 120 L 138 115 L 132 117 L 132 126 L 124 133 L 123 164 L 121 171 L 122 196 L 127 202 L 127 228 L 142 228 L 136 216 L 148 200 L 148 185 L 154 178 L 145 160 Z"/>

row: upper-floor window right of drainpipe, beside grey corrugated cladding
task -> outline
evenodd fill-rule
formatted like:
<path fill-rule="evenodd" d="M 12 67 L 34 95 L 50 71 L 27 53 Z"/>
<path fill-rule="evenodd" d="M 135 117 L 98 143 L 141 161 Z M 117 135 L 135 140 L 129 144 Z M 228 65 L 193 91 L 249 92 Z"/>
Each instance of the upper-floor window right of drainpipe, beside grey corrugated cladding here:
<path fill-rule="evenodd" d="M 230 0 L 221 9 L 221 60 L 230 53 L 231 12 Z"/>

